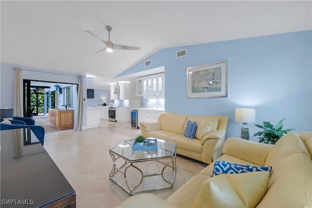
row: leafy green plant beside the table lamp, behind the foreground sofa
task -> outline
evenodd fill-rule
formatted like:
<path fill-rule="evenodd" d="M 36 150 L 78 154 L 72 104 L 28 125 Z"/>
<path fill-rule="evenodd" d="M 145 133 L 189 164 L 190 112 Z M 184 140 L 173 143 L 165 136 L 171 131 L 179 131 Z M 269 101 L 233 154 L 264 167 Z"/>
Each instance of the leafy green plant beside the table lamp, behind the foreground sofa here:
<path fill-rule="evenodd" d="M 279 138 L 281 138 L 284 133 L 290 132 L 294 129 L 282 130 L 283 121 L 286 118 L 280 120 L 275 127 L 269 121 L 263 121 L 263 125 L 255 124 L 254 126 L 263 129 L 262 132 L 254 133 L 254 136 L 259 136 L 259 142 L 266 144 L 276 144 Z"/>

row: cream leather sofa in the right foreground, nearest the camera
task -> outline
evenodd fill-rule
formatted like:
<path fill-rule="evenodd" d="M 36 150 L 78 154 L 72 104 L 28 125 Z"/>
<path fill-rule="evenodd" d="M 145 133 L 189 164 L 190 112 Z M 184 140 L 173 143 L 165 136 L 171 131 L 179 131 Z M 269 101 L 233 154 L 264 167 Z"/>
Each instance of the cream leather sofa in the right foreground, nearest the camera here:
<path fill-rule="evenodd" d="M 275 145 L 230 137 L 224 144 L 223 153 L 224 154 L 219 157 L 217 161 L 220 160 L 236 164 L 257 166 L 272 166 L 272 171 L 267 182 L 268 185 L 263 196 L 258 192 L 250 196 L 252 198 L 261 196 L 259 199 L 260 202 L 257 202 L 254 207 L 312 207 L 312 132 L 285 134 Z M 223 191 L 220 191 L 219 195 L 211 197 L 211 193 L 209 192 L 211 189 L 205 189 L 204 191 L 201 189 L 203 186 L 202 184 L 206 183 L 205 181 L 217 177 L 214 176 L 210 178 L 214 169 L 214 163 L 200 171 L 166 200 L 161 199 L 154 194 L 144 193 L 126 199 L 119 204 L 118 207 L 201 207 L 200 205 L 198 206 L 198 199 L 200 199 L 202 195 L 211 202 L 214 198 L 222 196 L 223 194 Z M 267 173 L 269 175 L 268 171 L 262 171 L 262 173 Z M 248 174 L 250 173 L 220 174 L 219 176 L 224 177 L 233 175 L 235 177 L 245 177 Z M 237 180 L 231 181 L 231 183 L 235 182 L 237 182 Z M 249 189 L 248 191 L 247 189 L 241 189 L 240 191 L 242 191 L 243 195 L 249 195 L 249 192 L 257 191 L 253 190 L 254 186 L 255 183 L 251 183 L 249 188 L 252 189 Z M 235 194 L 236 192 L 233 194 L 227 194 L 222 196 L 222 199 L 233 200 L 232 196 Z M 231 201 L 231 203 L 231 207 L 235 207 L 234 202 Z M 204 203 L 202 206 L 209 207 Z M 222 207 L 222 205 L 218 206 L 214 204 L 213 207 Z M 243 207 L 252 206 L 245 205 Z"/>

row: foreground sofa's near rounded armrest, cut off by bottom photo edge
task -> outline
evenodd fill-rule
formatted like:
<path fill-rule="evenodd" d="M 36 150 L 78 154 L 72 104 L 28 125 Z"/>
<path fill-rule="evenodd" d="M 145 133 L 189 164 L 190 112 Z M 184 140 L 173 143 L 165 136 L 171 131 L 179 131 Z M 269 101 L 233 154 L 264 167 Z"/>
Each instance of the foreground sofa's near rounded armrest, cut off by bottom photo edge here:
<path fill-rule="evenodd" d="M 128 199 L 117 205 L 116 208 L 176 208 L 166 200 L 151 194 L 141 193 Z"/>

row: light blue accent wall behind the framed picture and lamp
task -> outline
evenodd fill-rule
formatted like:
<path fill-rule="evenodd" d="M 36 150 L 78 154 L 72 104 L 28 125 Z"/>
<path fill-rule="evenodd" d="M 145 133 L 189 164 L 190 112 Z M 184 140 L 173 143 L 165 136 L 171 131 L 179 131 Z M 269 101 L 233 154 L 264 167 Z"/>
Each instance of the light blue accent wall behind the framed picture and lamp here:
<path fill-rule="evenodd" d="M 187 56 L 176 58 L 183 49 Z M 144 67 L 147 60 L 152 65 Z M 187 98 L 187 68 L 221 60 L 228 60 L 228 97 Z M 159 66 L 165 66 L 165 111 L 228 116 L 226 138 L 240 137 L 235 108 L 244 107 L 256 109 L 251 140 L 261 130 L 254 124 L 284 117 L 284 129 L 312 131 L 311 30 L 162 49 L 119 76 Z"/>

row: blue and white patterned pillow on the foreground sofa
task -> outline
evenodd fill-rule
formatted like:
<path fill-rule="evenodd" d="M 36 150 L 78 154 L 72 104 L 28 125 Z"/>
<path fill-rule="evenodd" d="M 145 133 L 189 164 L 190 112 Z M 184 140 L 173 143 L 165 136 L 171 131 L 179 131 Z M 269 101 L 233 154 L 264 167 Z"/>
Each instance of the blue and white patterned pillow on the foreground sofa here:
<path fill-rule="evenodd" d="M 271 172 L 272 166 L 250 166 L 229 163 L 226 161 L 215 161 L 214 170 L 211 177 L 221 173 L 243 173 L 243 172 L 256 172 L 256 171 L 269 171 Z"/>

